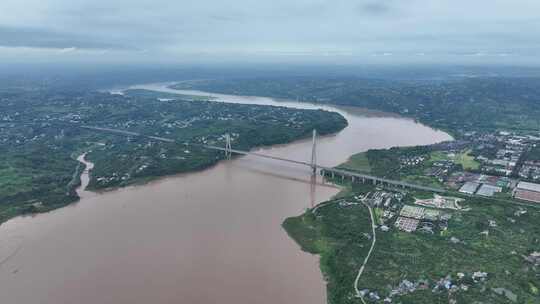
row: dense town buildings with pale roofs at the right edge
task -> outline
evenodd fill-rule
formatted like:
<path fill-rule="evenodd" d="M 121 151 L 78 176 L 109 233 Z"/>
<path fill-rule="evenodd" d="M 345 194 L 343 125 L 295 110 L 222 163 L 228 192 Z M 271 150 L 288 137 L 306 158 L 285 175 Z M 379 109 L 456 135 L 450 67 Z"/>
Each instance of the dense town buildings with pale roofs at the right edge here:
<path fill-rule="evenodd" d="M 451 189 L 468 195 L 493 197 L 497 193 L 540 203 L 540 138 L 511 132 L 465 134 L 465 140 L 454 144 L 434 145 L 447 159 L 436 160 L 426 175 L 445 183 Z M 452 155 L 470 151 L 474 168 L 456 170 L 458 161 Z M 459 168 L 459 167 L 457 167 Z M 521 180 L 521 181 L 520 181 Z"/>

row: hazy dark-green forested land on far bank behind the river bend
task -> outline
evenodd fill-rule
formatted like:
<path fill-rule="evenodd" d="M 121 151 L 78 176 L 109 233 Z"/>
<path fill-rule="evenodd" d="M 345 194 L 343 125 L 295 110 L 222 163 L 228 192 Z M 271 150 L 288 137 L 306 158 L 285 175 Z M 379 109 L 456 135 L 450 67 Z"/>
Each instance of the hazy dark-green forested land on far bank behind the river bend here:
<path fill-rule="evenodd" d="M 176 87 L 366 107 L 411 116 L 458 136 L 468 129 L 540 129 L 540 78 L 295 77 L 194 81 Z"/>

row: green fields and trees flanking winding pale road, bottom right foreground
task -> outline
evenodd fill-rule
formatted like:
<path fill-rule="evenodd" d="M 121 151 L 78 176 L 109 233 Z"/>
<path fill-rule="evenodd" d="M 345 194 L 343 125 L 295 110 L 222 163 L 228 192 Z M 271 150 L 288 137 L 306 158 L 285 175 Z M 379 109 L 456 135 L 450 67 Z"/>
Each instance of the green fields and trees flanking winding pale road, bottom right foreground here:
<path fill-rule="evenodd" d="M 540 269 L 525 259 L 540 251 L 538 210 L 489 200 L 468 200 L 466 206 L 471 210 L 453 212 L 448 230 L 441 234 L 378 230 L 360 289 L 377 291 L 384 299 L 403 280 L 425 281 L 426 289 L 394 296 L 393 302 L 511 303 L 493 291 L 504 288 L 517 296 L 516 303 L 538 303 Z M 495 224 L 490 226 L 490 221 Z M 324 203 L 315 214 L 308 210 L 284 222 L 303 250 L 321 255 L 329 303 L 361 303 L 354 298 L 353 282 L 369 249 L 370 240 L 364 236 L 370 233 L 369 223 L 363 205 L 340 206 L 335 201 Z M 485 282 L 472 282 L 470 275 L 477 271 L 488 274 Z M 466 276 L 459 279 L 458 273 Z M 433 291 L 447 276 L 468 290 Z"/>

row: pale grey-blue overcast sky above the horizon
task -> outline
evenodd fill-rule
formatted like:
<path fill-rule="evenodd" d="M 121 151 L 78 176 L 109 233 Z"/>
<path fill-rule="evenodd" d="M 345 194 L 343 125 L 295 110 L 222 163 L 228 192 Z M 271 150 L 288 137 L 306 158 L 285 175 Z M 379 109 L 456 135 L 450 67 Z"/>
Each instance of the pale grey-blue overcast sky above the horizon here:
<path fill-rule="evenodd" d="M 538 63 L 539 0 L 1 0 L 0 62 Z"/>

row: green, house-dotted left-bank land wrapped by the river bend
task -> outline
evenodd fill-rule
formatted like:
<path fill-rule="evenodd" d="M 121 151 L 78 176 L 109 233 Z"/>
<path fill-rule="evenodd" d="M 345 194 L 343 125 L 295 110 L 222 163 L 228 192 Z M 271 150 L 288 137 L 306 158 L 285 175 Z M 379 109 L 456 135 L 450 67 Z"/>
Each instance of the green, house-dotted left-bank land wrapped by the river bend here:
<path fill-rule="evenodd" d="M 157 100 L 156 98 L 165 98 Z M 0 223 L 74 202 L 85 151 L 95 163 L 89 189 L 122 187 L 159 176 L 199 170 L 223 153 L 191 144 L 233 146 L 287 143 L 313 129 L 329 134 L 346 126 L 337 113 L 283 107 L 182 100 L 141 90 L 127 96 L 53 89 L 0 90 Z M 81 126 L 172 138 L 99 133 Z"/>

